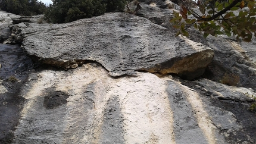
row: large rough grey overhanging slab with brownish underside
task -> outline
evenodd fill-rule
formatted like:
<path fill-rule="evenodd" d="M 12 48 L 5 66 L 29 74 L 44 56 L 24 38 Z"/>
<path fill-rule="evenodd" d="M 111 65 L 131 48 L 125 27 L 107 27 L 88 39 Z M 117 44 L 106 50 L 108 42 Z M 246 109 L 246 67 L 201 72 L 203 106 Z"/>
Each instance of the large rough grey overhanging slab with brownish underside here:
<path fill-rule="evenodd" d="M 166 28 L 127 13 L 67 24 L 30 24 L 22 33 L 24 49 L 42 64 L 68 69 L 96 61 L 111 76 L 145 70 L 194 79 L 214 56 L 201 43 L 174 37 Z"/>

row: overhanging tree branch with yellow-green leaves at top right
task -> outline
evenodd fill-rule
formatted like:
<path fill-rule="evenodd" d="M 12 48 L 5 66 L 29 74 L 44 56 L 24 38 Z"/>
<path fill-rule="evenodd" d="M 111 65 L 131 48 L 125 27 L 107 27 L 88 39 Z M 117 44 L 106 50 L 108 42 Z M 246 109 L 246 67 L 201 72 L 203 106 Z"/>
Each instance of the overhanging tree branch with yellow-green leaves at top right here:
<path fill-rule="evenodd" d="M 205 38 L 224 34 L 250 42 L 252 36 L 256 36 L 256 1 L 253 0 L 215 1 L 215 4 L 213 1 L 186 0 L 180 4 L 180 11 L 173 13 L 174 18 L 170 21 L 179 29 L 176 36 L 189 36 L 186 24 L 193 24 Z"/>

